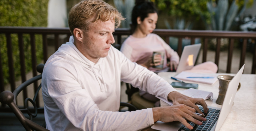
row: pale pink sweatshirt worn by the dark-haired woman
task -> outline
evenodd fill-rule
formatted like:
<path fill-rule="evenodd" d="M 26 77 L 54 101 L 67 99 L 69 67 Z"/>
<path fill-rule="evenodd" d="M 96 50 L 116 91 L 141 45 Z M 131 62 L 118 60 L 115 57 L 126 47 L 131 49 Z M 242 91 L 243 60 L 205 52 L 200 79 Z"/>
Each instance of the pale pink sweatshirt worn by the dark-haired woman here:
<path fill-rule="evenodd" d="M 138 64 L 145 63 L 153 52 L 165 52 L 164 68 L 167 66 L 167 59 L 179 63 L 179 56 L 166 42 L 156 34 L 148 34 L 144 38 L 136 38 L 130 35 L 122 44 L 120 51 L 125 57 Z M 162 70 L 150 67 L 149 70 Z"/>

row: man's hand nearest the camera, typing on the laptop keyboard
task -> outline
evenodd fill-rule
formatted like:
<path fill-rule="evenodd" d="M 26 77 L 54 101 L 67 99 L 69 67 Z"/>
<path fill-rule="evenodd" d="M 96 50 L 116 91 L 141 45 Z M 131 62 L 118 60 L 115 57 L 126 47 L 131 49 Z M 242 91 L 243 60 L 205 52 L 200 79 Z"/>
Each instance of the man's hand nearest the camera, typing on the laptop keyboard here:
<path fill-rule="evenodd" d="M 153 108 L 152 110 L 153 110 L 154 122 L 179 121 L 187 128 L 193 129 L 193 127 L 189 123 L 187 123 L 186 120 L 189 120 L 197 125 L 202 125 L 201 121 L 206 121 L 206 118 L 195 114 L 194 108 L 191 108 L 183 104 L 177 104 L 177 105 L 166 106 L 166 107 L 156 107 L 156 108 Z"/>

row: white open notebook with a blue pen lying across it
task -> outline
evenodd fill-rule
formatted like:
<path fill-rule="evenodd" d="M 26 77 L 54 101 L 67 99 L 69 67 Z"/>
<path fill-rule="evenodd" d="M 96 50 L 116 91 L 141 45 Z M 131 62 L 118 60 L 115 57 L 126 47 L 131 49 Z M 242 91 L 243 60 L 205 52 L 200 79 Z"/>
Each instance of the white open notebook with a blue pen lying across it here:
<path fill-rule="evenodd" d="M 192 72 L 181 72 L 175 78 L 182 79 L 182 80 L 188 80 L 193 82 L 200 82 L 205 84 L 214 84 L 217 81 L 217 75 L 218 74 L 201 74 L 201 73 L 192 73 Z M 214 78 L 187 78 L 187 77 L 214 77 Z"/>

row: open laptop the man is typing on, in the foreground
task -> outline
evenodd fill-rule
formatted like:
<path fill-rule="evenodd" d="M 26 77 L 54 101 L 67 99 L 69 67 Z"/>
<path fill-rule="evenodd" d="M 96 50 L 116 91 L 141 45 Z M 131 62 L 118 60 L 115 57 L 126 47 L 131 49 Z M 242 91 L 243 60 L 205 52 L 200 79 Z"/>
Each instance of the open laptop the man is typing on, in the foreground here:
<path fill-rule="evenodd" d="M 230 81 L 222 104 L 222 108 L 208 106 L 209 111 L 207 115 L 205 115 L 207 121 L 203 122 L 203 125 L 195 125 L 194 123 L 190 123 L 188 121 L 188 123 L 194 127 L 193 130 L 190 130 L 180 122 L 163 123 L 158 121 L 151 128 L 161 131 L 218 131 L 232 108 L 232 104 L 236 95 L 236 90 L 238 88 L 243 70 L 244 65 L 238 71 L 235 77 Z M 203 112 L 202 106 L 199 106 L 199 108 Z"/>

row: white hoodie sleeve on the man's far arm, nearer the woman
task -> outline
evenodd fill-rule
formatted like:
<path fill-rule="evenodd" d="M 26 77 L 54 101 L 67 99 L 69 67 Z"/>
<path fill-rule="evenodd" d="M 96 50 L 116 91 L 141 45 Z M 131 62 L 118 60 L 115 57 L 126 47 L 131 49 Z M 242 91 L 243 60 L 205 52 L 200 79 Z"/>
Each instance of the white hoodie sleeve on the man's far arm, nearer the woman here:
<path fill-rule="evenodd" d="M 119 53 L 119 52 L 116 52 Z M 132 86 L 167 100 L 167 96 L 175 90 L 172 85 L 147 68 L 131 62 L 122 53 L 118 54 L 121 60 L 121 80 Z"/>

